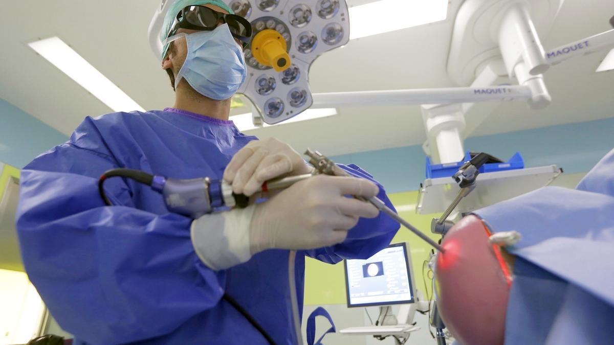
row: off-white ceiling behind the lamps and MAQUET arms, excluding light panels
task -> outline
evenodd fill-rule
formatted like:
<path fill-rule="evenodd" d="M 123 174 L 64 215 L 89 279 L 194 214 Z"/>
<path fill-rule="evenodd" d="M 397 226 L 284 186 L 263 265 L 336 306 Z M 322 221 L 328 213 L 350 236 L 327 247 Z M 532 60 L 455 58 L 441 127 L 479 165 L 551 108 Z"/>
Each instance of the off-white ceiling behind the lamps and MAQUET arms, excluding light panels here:
<path fill-rule="evenodd" d="M 424 0 L 428 1 L 428 0 Z M 370 0 L 348 0 L 356 6 Z M 449 37 L 457 7 L 448 20 L 349 42 L 313 64 L 314 93 L 456 86 L 446 73 Z M 146 109 L 172 106 L 174 93 L 147 41 L 157 0 L 90 2 L 1 1 L 0 98 L 65 134 L 87 115 L 111 109 L 74 83 L 26 43 L 59 36 Z M 394 10 L 394 9 L 391 9 Z M 567 0 L 545 48 L 554 48 L 611 29 L 612 0 Z M 485 135 L 614 117 L 614 72 L 594 71 L 607 51 L 554 66 L 546 73 L 553 104 L 530 111 L 504 103 L 471 134 Z M 234 109 L 232 114 L 249 112 Z M 250 131 L 274 136 L 302 150 L 328 155 L 422 144 L 426 139 L 418 106 L 343 107 L 340 115 Z M 471 118 L 467 119 L 470 123 Z"/>

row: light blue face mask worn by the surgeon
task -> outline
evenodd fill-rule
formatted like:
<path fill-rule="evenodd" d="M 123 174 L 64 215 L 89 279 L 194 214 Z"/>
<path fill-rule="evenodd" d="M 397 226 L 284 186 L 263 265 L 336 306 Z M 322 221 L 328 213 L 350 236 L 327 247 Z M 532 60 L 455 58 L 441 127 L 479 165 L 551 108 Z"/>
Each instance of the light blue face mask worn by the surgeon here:
<path fill-rule="evenodd" d="M 212 31 L 177 34 L 167 42 L 185 37 L 187 56 L 177 73 L 175 88 L 185 79 L 194 90 L 211 99 L 228 99 L 245 81 L 247 67 L 243 50 L 236 43 L 228 25 Z"/>

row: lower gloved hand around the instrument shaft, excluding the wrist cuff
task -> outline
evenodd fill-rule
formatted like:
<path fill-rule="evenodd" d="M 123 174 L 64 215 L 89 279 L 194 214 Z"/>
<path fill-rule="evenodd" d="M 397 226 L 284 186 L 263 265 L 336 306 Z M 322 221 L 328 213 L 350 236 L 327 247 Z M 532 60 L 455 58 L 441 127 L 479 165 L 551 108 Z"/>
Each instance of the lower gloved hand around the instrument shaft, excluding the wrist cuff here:
<path fill-rule="evenodd" d="M 359 217 L 374 218 L 378 209 L 345 195 L 377 195 L 378 187 L 355 177 L 316 176 L 298 182 L 257 204 L 249 242 L 255 254 L 265 249 L 314 249 L 344 241 Z"/>

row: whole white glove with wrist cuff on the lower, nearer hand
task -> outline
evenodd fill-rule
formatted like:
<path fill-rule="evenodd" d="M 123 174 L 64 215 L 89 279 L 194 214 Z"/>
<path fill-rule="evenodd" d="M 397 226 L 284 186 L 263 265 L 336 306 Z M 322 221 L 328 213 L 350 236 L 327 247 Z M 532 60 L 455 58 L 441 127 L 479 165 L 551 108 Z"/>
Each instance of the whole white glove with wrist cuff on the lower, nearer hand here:
<path fill-rule="evenodd" d="M 261 204 L 192 222 L 196 254 L 209 268 L 247 262 L 266 249 L 315 249 L 341 243 L 360 217 L 378 209 L 346 195 L 377 195 L 378 187 L 355 177 L 316 176 L 279 192 Z"/>

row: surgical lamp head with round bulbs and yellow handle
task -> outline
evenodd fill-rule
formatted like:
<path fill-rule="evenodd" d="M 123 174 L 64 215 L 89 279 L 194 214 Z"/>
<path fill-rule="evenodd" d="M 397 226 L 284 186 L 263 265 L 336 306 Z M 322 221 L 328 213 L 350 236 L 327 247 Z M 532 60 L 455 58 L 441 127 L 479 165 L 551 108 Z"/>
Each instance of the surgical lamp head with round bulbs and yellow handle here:
<path fill-rule="evenodd" d="M 344 0 L 247 2 L 253 36 L 244 51 L 247 80 L 238 93 L 254 103 L 265 123 L 286 121 L 313 104 L 308 83 L 313 61 L 349 41 L 348 7 Z M 247 7 L 240 0 L 229 5 Z"/>

